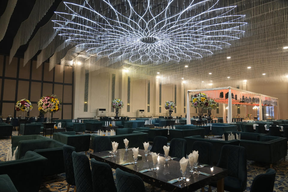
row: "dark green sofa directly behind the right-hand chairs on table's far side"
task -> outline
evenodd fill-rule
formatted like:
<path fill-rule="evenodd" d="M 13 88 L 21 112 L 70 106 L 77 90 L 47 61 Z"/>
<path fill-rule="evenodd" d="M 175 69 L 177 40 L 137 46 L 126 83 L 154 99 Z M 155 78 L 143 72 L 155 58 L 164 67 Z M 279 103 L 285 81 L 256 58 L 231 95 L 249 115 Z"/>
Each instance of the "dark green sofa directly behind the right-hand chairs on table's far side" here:
<path fill-rule="evenodd" d="M 189 155 L 192 151 L 192 146 L 195 141 L 205 141 L 212 143 L 213 145 L 213 163 L 217 164 L 220 158 L 221 148 L 223 145 L 239 145 L 239 140 L 230 140 L 230 141 L 223 141 L 223 140 L 211 140 L 211 139 L 204 139 L 202 136 L 191 136 L 184 138 L 187 141 L 187 155 Z"/>

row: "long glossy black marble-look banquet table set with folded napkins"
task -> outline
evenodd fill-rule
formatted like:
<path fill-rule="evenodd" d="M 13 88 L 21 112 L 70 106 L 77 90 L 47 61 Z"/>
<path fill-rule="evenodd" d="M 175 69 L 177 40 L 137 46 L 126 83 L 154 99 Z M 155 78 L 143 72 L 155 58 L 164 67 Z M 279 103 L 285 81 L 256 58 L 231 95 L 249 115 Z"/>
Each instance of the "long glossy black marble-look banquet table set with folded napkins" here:
<path fill-rule="evenodd" d="M 203 173 L 211 174 L 210 176 L 190 173 L 190 168 L 187 167 L 185 175 L 187 179 L 171 184 L 168 183 L 168 181 L 178 179 L 182 176 L 179 161 L 169 160 L 166 162 L 165 157 L 159 155 L 157 170 L 140 173 L 139 171 L 141 170 L 153 167 L 152 156 L 148 155 L 146 157 L 144 150 L 139 149 L 139 155 L 142 156 L 142 159 L 137 160 L 137 164 L 122 165 L 134 161 L 132 150 L 125 152 L 125 149 L 119 149 L 116 153 L 116 157 L 107 158 L 109 155 L 111 155 L 111 153 L 107 151 L 94 152 L 90 154 L 90 158 L 95 158 L 96 161 L 105 162 L 113 169 L 120 168 L 123 171 L 138 175 L 144 182 L 167 191 L 195 191 L 212 182 L 217 183 L 217 191 L 224 191 L 224 177 L 227 175 L 227 170 L 220 167 L 206 166 L 198 168 L 198 170 Z"/>

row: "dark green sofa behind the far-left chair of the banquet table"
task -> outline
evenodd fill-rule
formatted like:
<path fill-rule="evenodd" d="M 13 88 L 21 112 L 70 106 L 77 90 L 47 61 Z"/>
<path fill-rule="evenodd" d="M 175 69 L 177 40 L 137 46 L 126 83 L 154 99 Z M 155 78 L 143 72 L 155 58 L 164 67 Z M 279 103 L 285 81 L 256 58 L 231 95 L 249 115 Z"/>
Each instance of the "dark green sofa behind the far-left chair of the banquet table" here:
<path fill-rule="evenodd" d="M 99 137 L 99 136 L 96 134 L 91 135 L 91 143 L 93 143 L 95 137 Z M 113 136 L 107 136 L 107 137 L 110 138 L 111 142 L 115 141 L 119 143 L 118 149 L 125 149 L 125 144 L 123 142 L 124 139 L 128 139 L 129 148 L 139 147 L 139 149 L 144 149 L 143 143 L 148 142 L 148 133 L 143 133 L 140 131 L 133 131 L 131 134 L 113 135 Z"/>

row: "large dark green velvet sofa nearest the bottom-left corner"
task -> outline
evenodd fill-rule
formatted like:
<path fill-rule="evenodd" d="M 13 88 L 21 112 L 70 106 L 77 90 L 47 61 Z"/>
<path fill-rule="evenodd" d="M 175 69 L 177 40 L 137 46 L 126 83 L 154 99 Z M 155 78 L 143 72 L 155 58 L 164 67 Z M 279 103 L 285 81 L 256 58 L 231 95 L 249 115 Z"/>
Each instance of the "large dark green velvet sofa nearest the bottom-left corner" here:
<path fill-rule="evenodd" d="M 18 192 L 38 192 L 47 162 L 42 155 L 27 151 L 21 159 L 1 161 L 0 175 L 7 174 Z"/>

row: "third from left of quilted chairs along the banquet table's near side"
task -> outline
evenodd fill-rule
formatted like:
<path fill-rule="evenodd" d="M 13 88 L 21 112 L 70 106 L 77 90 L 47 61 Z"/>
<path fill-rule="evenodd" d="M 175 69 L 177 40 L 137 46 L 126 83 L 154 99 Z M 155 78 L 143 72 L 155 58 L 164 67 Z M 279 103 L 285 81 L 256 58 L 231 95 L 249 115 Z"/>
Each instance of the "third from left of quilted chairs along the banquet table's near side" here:
<path fill-rule="evenodd" d="M 117 192 L 110 165 L 91 159 L 93 191 Z"/>

